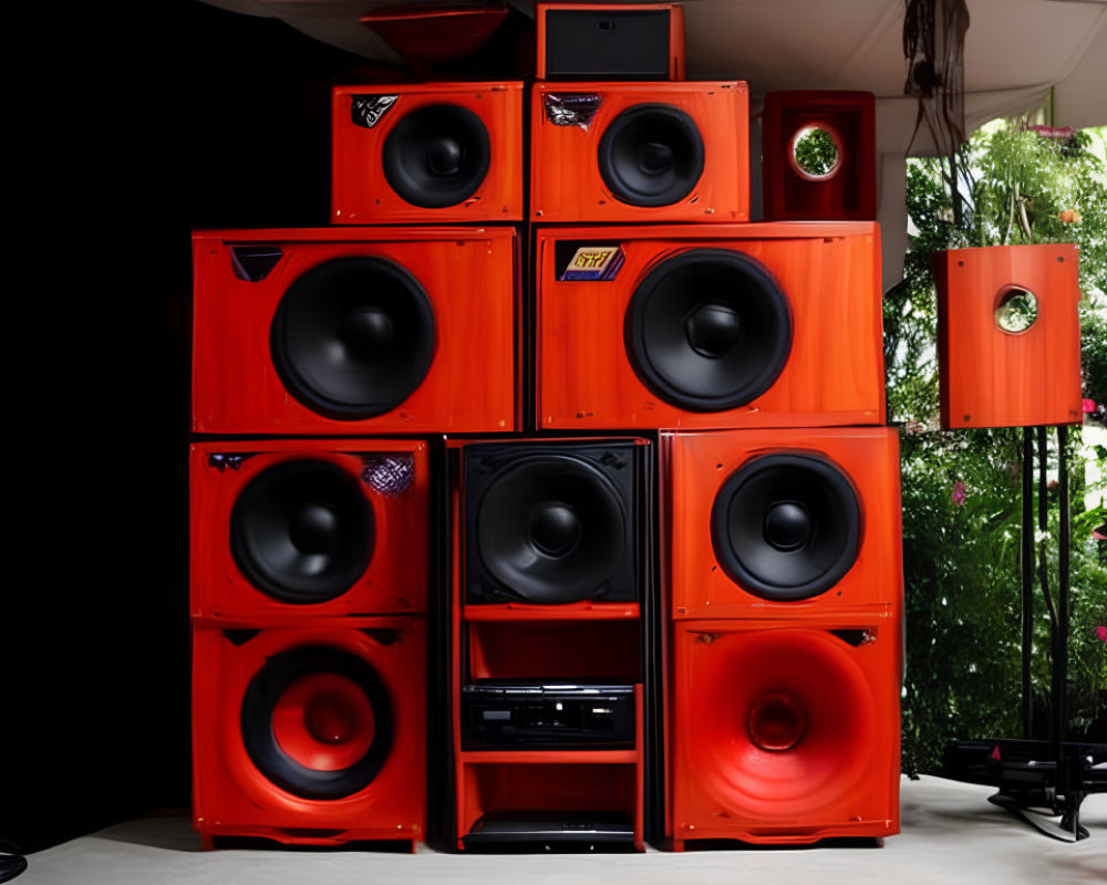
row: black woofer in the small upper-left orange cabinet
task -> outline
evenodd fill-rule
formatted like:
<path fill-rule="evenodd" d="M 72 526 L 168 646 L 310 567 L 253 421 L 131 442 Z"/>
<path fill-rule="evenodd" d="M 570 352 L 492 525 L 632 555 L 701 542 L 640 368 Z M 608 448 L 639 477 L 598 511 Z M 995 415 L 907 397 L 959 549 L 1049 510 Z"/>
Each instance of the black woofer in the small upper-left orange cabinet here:
<path fill-rule="evenodd" d="M 432 104 L 407 114 L 389 133 L 381 165 L 405 201 L 444 209 L 467 200 L 488 175 L 492 146 L 484 121 L 467 107 Z"/>

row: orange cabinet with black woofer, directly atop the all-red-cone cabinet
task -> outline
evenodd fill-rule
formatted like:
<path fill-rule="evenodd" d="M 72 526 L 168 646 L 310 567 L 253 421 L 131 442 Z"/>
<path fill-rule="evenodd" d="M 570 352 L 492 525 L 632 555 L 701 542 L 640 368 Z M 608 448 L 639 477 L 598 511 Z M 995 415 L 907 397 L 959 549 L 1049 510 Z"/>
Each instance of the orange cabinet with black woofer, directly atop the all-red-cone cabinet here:
<path fill-rule="evenodd" d="M 673 617 L 899 618 L 899 438 L 886 427 L 662 434 Z"/>

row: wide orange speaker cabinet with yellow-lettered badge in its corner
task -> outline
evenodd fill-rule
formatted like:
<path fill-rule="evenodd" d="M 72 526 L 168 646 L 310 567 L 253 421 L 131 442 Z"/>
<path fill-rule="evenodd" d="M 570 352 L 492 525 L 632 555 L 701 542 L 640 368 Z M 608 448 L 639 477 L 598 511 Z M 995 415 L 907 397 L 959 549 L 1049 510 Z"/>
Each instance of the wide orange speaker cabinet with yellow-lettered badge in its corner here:
<path fill-rule="evenodd" d="M 537 237 L 538 424 L 883 424 L 872 222 Z"/>

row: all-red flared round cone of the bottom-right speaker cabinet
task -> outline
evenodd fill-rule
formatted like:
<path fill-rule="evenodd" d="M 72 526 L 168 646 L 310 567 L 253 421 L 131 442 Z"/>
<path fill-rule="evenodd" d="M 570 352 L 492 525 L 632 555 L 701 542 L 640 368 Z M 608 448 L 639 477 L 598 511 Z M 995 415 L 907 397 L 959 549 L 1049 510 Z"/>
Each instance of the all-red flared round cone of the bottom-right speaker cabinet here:
<path fill-rule="evenodd" d="M 815 815 L 872 761 L 872 687 L 852 649 L 817 629 L 723 634 L 696 645 L 682 751 L 720 805 L 754 819 Z M 736 678 L 741 677 L 741 678 Z"/>

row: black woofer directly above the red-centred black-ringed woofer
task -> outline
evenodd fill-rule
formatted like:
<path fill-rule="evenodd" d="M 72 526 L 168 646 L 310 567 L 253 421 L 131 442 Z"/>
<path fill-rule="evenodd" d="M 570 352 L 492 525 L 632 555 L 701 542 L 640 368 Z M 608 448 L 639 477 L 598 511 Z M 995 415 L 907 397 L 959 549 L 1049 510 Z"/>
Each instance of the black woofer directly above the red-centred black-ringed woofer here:
<path fill-rule="evenodd" d="M 373 555 L 373 508 L 329 461 L 284 461 L 256 476 L 230 513 L 230 550 L 262 593 L 288 603 L 341 596 Z"/>

